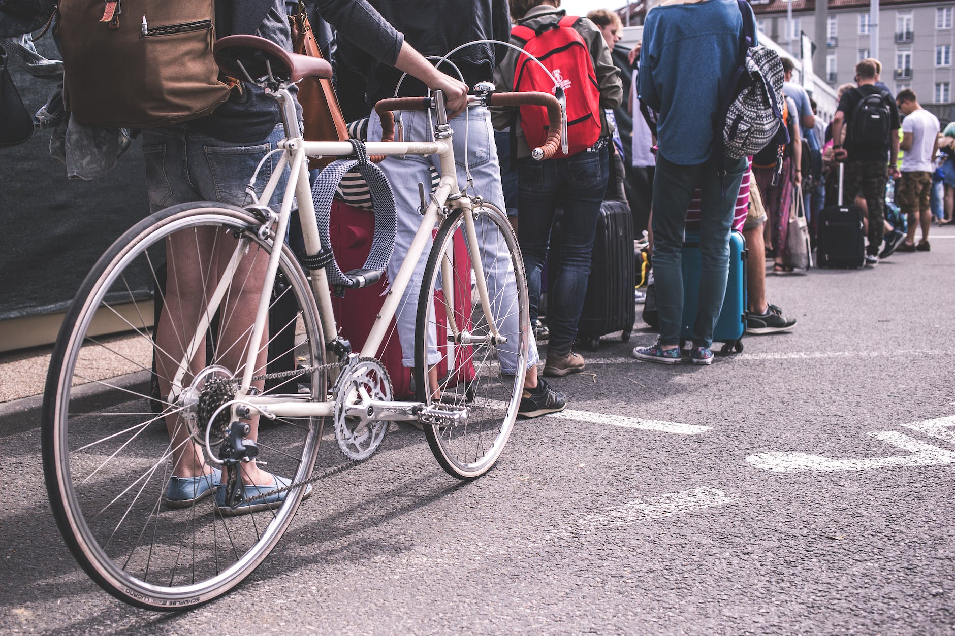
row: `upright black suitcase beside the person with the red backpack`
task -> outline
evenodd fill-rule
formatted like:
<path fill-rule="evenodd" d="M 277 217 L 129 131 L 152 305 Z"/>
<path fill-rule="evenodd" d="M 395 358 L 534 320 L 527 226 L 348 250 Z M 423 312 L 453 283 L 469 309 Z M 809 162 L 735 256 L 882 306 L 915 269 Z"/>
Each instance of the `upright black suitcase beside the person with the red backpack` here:
<path fill-rule="evenodd" d="M 604 201 L 597 222 L 584 310 L 577 328 L 578 341 L 587 343 L 590 350 L 597 350 L 600 337 L 606 333 L 623 330 L 621 340 L 630 339 L 637 319 L 633 302 L 634 263 L 630 208 L 626 201 Z"/>

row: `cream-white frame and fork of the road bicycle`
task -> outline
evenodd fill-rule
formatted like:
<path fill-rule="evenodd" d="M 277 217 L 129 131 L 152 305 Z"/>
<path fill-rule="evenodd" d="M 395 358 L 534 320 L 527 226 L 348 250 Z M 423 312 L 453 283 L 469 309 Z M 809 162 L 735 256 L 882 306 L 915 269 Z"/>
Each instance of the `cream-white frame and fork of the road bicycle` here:
<path fill-rule="evenodd" d="M 258 201 L 261 205 L 267 205 L 276 194 L 279 180 L 281 179 L 286 166 L 289 167 L 288 181 L 285 194 L 282 199 L 282 206 L 278 214 L 278 222 L 272 234 L 273 242 L 281 244 L 282 237 L 286 236 L 289 219 L 291 218 L 291 209 L 293 197 L 298 200 L 299 218 L 302 223 L 302 233 L 305 239 L 305 246 L 308 254 L 317 254 L 322 249 L 322 241 L 318 232 L 318 225 L 315 221 L 315 208 L 311 199 L 311 189 L 308 184 L 308 158 L 310 157 L 347 157 L 354 153 L 354 148 L 348 141 L 306 141 L 298 125 L 298 117 L 295 112 L 295 102 L 286 89 L 277 91 L 280 107 L 283 112 L 285 123 L 286 138 L 279 142 L 278 146 L 283 151 L 275 170 L 265 185 L 265 189 Z M 436 94 L 435 100 L 443 99 L 442 95 Z M 440 109 L 439 109 L 440 112 Z M 440 117 L 439 117 L 440 118 Z M 438 123 L 441 123 L 440 121 Z M 394 311 L 397 308 L 405 289 L 411 281 L 414 272 L 414 266 L 418 263 L 425 247 L 432 238 L 432 230 L 436 223 L 442 220 L 441 212 L 446 208 L 464 209 L 464 231 L 467 238 L 468 252 L 471 256 L 471 263 L 475 269 L 477 279 L 477 293 L 480 299 L 481 308 L 488 320 L 489 330 L 493 337 L 499 338 L 497 326 L 492 320 L 491 304 L 488 298 L 487 282 L 484 278 L 483 267 L 481 265 L 480 253 L 478 251 L 477 232 L 475 229 L 474 215 L 472 214 L 472 201 L 468 197 L 462 196 L 457 186 L 457 171 L 455 164 L 455 155 L 452 144 L 451 131 L 444 138 L 435 138 L 434 141 L 369 141 L 366 143 L 369 155 L 437 155 L 440 158 L 440 180 L 435 193 L 431 196 L 421 224 L 414 234 L 414 240 L 408 249 L 397 275 L 392 281 L 392 286 L 385 298 L 384 305 L 378 312 L 368 339 L 362 347 L 362 356 L 374 356 L 381 346 L 382 340 L 386 335 L 386 330 L 391 324 Z M 200 324 L 196 329 L 189 347 L 187 347 L 180 366 L 173 379 L 172 390 L 169 395 L 170 403 L 174 403 L 176 396 L 182 391 L 182 381 L 186 372 L 189 370 L 189 361 L 196 355 L 200 349 L 202 339 L 206 329 L 209 327 L 211 316 L 222 301 L 225 291 L 232 281 L 239 262 L 242 259 L 244 250 L 249 243 L 249 239 L 243 239 L 236 246 L 235 252 L 229 264 L 223 272 L 222 279 L 216 286 L 209 301 L 209 308 L 203 312 Z M 235 409 L 237 403 L 242 403 L 254 408 L 258 413 L 272 419 L 274 417 L 324 417 L 332 414 L 333 402 L 322 401 L 314 402 L 310 398 L 296 398 L 293 395 L 251 395 L 249 387 L 252 384 L 252 377 L 256 369 L 256 359 L 261 351 L 262 338 L 265 332 L 265 325 L 268 322 L 268 306 L 271 296 L 271 289 L 274 284 L 275 275 L 278 271 L 279 260 L 282 255 L 281 249 L 273 249 L 268 260 L 265 271 L 265 283 L 262 288 L 262 294 L 259 299 L 259 306 L 255 316 L 255 323 L 252 328 L 252 335 L 246 360 L 244 365 L 242 383 L 236 400 L 232 406 L 232 417 L 235 419 Z M 450 264 L 442 264 L 442 267 L 449 268 Z M 451 284 L 454 280 L 450 271 L 443 272 L 444 285 Z M 326 342 L 322 343 L 326 347 L 337 336 L 338 328 L 335 325 L 335 317 L 331 308 L 331 293 L 329 283 L 326 277 L 325 269 L 315 269 L 310 271 L 312 292 L 315 296 L 315 302 L 318 307 L 319 316 L 322 322 L 322 331 Z M 445 289 L 445 294 L 449 290 Z M 450 296 L 454 297 L 454 296 Z M 453 317 L 449 321 L 449 327 L 454 329 Z M 397 403 L 397 402 L 396 402 Z M 402 403 L 406 404 L 406 403 Z M 414 403 L 411 403 L 414 404 Z M 405 418 L 396 415 L 395 418 Z M 407 417 L 411 419 L 412 417 Z"/>

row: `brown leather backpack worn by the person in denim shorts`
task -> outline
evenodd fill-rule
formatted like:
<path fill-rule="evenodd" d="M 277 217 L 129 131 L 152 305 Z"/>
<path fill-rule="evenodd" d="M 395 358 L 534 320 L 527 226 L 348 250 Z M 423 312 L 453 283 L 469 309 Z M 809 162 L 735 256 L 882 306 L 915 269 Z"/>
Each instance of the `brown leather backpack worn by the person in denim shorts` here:
<path fill-rule="evenodd" d="M 155 128 L 229 96 L 212 56 L 213 0 L 60 0 L 64 100 L 86 126 Z"/>

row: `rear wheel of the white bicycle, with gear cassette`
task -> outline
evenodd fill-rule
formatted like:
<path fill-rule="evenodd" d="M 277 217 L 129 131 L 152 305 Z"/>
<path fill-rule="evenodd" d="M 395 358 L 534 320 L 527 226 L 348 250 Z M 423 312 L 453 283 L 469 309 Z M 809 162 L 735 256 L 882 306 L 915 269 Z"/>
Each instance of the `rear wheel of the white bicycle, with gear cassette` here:
<path fill-rule="evenodd" d="M 259 512 L 230 515 L 234 510 L 217 503 L 224 494 L 218 475 L 208 475 L 215 464 L 197 441 L 242 374 L 264 265 L 275 248 L 259 227 L 244 210 L 221 203 L 150 216 L 99 259 L 56 341 L 42 422 L 53 514 L 87 574 L 129 604 L 172 610 L 223 594 L 265 559 L 305 494 L 299 486 Z M 294 372 L 296 364 L 324 363 L 321 324 L 301 267 L 280 245 L 255 372 L 282 362 L 292 372 L 259 389 L 321 400 L 324 373 Z M 190 349 L 191 362 L 177 362 Z M 174 396 L 178 373 L 183 389 Z M 296 482 L 308 478 L 320 425 L 317 418 L 263 419 L 248 435 L 257 438 L 259 465 Z M 193 457 L 205 457 L 207 476 L 176 482 L 174 473 Z M 185 487 L 175 491 L 175 483 Z"/>

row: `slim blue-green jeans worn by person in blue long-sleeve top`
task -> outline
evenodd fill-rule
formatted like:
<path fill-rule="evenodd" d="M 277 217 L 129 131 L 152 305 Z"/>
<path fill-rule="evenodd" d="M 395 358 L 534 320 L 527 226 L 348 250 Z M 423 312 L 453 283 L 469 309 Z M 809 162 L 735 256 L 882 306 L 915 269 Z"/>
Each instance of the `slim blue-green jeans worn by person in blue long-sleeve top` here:
<path fill-rule="evenodd" d="M 653 277 L 656 281 L 660 344 L 680 344 L 683 320 L 683 240 L 693 189 L 700 188 L 699 302 L 693 322 L 693 346 L 712 346 L 713 327 L 726 296 L 730 273 L 730 231 L 733 206 L 746 159 L 732 163 L 722 180 L 718 161 L 678 165 L 657 156 L 653 179 Z M 722 187 L 726 186 L 723 191 Z M 755 183 L 751 185 L 755 187 Z M 758 257 L 757 257 L 758 258 Z"/>

